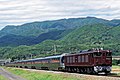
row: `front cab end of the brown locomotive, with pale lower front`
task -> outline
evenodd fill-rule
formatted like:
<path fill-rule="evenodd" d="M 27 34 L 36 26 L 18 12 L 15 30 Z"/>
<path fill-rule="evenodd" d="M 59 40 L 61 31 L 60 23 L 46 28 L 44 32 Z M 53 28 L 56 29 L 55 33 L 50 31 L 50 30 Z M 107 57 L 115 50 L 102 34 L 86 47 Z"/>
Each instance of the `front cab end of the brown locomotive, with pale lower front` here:
<path fill-rule="evenodd" d="M 109 73 L 112 66 L 112 55 L 109 50 L 99 50 L 93 53 L 95 72 Z"/>

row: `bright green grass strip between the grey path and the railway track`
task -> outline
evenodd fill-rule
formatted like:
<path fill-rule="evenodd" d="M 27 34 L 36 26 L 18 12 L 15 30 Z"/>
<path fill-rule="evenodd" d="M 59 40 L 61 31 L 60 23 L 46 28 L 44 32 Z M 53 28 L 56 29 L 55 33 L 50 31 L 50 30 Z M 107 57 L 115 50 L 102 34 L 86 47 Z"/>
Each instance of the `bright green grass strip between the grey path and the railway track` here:
<path fill-rule="evenodd" d="M 28 70 L 22 70 L 17 68 L 5 68 L 5 69 L 27 80 L 83 80 L 83 78 L 80 77 L 64 74 L 55 74 L 48 72 L 31 72 Z"/>

